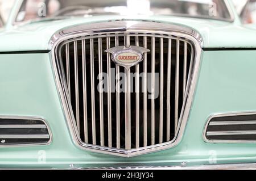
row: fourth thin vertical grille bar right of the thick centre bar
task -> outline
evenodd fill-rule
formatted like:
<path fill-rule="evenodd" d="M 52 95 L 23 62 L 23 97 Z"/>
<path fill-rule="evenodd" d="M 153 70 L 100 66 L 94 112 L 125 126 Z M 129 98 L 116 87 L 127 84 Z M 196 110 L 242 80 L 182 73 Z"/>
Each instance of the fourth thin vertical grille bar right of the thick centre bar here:
<path fill-rule="evenodd" d="M 164 89 L 163 38 L 160 38 L 160 110 L 159 110 L 159 143 L 162 143 L 162 142 L 163 142 L 163 89 Z"/>

